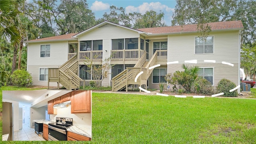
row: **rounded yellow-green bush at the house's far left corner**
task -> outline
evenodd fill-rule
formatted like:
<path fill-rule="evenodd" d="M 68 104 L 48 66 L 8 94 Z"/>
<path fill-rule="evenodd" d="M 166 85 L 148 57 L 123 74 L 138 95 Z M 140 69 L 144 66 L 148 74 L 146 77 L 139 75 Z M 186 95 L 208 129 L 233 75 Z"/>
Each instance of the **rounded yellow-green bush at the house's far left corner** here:
<path fill-rule="evenodd" d="M 14 86 L 28 86 L 32 84 L 32 76 L 26 70 L 15 70 L 11 75 Z"/>

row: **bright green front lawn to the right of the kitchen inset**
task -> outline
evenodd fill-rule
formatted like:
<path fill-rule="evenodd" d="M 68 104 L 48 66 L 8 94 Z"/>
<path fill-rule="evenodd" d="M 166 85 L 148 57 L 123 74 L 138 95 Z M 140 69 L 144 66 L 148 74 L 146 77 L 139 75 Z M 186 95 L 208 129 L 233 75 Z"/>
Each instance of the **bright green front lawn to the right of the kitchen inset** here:
<path fill-rule="evenodd" d="M 256 100 L 92 94 L 97 143 L 256 143 Z"/>

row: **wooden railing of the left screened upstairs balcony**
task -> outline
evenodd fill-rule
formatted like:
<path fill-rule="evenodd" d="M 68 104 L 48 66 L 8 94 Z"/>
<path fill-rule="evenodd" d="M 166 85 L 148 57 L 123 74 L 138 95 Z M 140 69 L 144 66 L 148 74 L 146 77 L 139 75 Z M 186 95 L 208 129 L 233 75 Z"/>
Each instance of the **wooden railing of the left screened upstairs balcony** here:
<path fill-rule="evenodd" d="M 102 50 L 90 50 L 90 51 L 81 51 L 79 52 L 78 61 L 102 61 Z"/>

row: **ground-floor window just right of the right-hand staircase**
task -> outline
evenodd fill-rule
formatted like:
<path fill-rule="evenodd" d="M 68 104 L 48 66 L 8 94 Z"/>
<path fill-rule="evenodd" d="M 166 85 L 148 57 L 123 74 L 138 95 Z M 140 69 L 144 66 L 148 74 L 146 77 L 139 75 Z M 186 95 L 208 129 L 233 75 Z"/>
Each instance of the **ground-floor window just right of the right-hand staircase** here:
<path fill-rule="evenodd" d="M 167 68 L 154 68 L 153 83 L 166 82 L 164 76 L 167 74 Z"/>

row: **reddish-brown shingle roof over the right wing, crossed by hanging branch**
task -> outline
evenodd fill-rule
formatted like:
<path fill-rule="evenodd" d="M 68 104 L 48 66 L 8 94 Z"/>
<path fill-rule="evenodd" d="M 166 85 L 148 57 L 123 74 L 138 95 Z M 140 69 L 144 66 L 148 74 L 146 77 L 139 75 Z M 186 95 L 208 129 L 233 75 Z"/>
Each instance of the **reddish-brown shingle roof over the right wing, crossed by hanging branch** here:
<path fill-rule="evenodd" d="M 224 29 L 234 29 L 234 28 L 244 28 L 242 21 L 226 21 L 226 22 L 211 22 L 208 23 L 211 26 L 211 30 L 224 30 Z M 158 28 L 140 28 L 138 29 L 143 32 L 152 34 L 165 34 L 165 33 L 176 33 L 176 32 L 196 32 L 197 24 L 188 24 L 182 26 L 165 26 Z"/>

